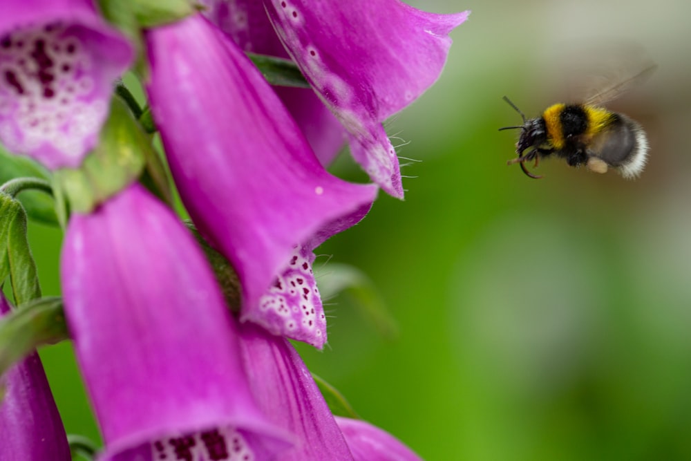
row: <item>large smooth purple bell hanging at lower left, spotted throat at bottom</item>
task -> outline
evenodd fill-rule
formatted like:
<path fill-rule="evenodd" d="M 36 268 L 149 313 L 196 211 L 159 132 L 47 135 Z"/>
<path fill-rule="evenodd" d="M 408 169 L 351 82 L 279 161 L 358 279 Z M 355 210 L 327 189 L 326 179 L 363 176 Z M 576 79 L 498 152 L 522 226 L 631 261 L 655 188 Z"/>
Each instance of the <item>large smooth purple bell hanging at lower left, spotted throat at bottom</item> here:
<path fill-rule="evenodd" d="M 250 394 L 205 257 L 143 187 L 71 216 L 61 285 L 105 460 L 267 459 L 285 447 Z"/>

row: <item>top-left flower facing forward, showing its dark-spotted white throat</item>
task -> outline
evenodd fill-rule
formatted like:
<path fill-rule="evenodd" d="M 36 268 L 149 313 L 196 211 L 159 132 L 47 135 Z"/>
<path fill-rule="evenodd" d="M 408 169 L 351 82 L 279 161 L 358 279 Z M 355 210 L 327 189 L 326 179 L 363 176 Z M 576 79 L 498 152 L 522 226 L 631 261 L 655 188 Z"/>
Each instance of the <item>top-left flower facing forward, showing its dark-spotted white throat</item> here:
<path fill-rule="evenodd" d="M 50 169 L 77 167 L 108 115 L 133 48 L 84 0 L 5 0 L 0 141 Z"/>

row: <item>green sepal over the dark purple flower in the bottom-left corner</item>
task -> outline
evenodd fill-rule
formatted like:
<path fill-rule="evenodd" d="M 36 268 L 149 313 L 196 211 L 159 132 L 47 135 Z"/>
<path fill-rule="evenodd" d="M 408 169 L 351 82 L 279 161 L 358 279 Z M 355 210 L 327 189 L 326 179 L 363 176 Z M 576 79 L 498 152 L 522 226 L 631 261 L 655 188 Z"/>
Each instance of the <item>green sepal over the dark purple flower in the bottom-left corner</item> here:
<path fill-rule="evenodd" d="M 0 375 L 39 346 L 65 339 L 69 333 L 60 298 L 21 305 L 0 319 Z"/>

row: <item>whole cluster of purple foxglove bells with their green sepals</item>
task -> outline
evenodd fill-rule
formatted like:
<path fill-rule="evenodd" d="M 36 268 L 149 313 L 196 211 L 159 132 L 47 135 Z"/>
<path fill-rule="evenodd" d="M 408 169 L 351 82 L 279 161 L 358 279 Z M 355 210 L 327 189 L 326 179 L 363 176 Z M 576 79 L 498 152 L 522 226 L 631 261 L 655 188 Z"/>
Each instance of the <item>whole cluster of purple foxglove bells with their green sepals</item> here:
<path fill-rule="evenodd" d="M 53 178 L 66 330 L 104 438 L 100 459 L 418 459 L 384 431 L 332 415 L 288 339 L 327 341 L 313 250 L 357 224 L 379 188 L 403 196 L 382 122 L 439 77 L 448 32 L 468 12 L 205 0 L 200 12 L 171 6 L 142 21 L 155 2 L 127 11 L 103 1 L 105 12 L 108 3 L 118 15 L 90 0 L 8 0 L 0 16 L 0 142 Z M 248 53 L 303 80 L 271 86 Z M 149 111 L 113 97 L 130 68 L 206 251 L 147 154 Z M 371 184 L 325 169 L 346 142 Z M 70 459 L 37 356 L 3 379 L 0 458 Z"/>

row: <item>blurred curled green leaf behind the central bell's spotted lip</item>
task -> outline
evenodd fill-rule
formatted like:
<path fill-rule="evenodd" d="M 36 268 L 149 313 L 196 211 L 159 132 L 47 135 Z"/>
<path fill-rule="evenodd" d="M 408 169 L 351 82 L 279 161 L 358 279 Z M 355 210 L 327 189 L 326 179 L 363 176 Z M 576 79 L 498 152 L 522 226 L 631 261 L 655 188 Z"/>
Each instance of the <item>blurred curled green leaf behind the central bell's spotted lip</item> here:
<path fill-rule="evenodd" d="M 346 264 L 330 263 L 321 269 L 315 269 L 319 280 L 321 299 L 332 299 L 337 294 L 352 298 L 363 317 L 372 323 L 380 335 L 387 339 L 398 335 L 398 326 L 393 316 L 386 309 L 377 287 L 372 280 L 357 267 Z"/>

